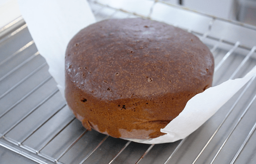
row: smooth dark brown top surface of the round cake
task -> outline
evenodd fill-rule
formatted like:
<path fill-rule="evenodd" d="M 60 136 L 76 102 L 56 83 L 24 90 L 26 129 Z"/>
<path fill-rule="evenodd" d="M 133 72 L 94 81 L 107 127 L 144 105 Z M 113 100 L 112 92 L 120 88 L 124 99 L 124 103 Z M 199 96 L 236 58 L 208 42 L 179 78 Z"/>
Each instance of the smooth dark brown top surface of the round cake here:
<path fill-rule="evenodd" d="M 101 99 L 191 91 L 213 75 L 214 59 L 196 36 L 142 18 L 104 20 L 68 44 L 66 76 Z"/>

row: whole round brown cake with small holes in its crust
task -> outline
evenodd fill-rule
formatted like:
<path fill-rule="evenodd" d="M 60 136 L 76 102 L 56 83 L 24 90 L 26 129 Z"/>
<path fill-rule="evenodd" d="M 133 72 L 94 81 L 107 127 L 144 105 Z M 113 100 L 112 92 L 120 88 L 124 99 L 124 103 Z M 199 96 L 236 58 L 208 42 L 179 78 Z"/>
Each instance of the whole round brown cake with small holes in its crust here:
<path fill-rule="evenodd" d="M 214 59 L 196 36 L 141 18 L 82 29 L 65 56 L 65 97 L 82 125 L 149 139 L 212 85 Z"/>

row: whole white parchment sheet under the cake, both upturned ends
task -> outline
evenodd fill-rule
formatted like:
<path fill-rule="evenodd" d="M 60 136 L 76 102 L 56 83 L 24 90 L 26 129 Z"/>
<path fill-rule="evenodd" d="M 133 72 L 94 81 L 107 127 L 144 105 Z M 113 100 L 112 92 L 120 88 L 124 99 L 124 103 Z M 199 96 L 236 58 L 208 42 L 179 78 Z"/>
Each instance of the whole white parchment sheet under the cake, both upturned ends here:
<path fill-rule="evenodd" d="M 86 0 L 18 0 L 18 3 L 37 49 L 46 59 L 49 72 L 64 97 L 66 46 L 80 29 L 95 22 L 90 7 Z M 161 129 L 166 135 L 132 141 L 156 144 L 187 137 L 255 75 L 256 67 L 244 78 L 228 80 L 194 96 L 180 115 Z"/>

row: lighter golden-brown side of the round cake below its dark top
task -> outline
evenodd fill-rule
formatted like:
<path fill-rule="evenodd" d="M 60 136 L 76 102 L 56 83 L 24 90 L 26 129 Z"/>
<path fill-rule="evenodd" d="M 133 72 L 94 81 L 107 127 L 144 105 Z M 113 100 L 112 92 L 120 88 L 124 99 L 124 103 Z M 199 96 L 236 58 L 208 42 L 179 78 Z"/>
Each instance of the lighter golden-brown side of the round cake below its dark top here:
<path fill-rule="evenodd" d="M 148 139 L 164 135 L 160 129 L 180 114 L 195 93 L 166 93 L 106 101 L 83 92 L 66 78 L 65 95 L 68 106 L 86 129 L 92 128 L 116 138 Z"/>

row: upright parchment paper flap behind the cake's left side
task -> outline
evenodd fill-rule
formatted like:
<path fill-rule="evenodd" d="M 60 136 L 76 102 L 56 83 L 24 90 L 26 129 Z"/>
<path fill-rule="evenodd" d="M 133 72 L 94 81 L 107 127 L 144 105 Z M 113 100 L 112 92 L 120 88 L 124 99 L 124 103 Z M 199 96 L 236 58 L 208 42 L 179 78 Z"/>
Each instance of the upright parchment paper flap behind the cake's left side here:
<path fill-rule="evenodd" d="M 65 51 L 80 29 L 95 22 L 86 0 L 18 0 L 19 9 L 39 53 L 64 96 Z"/>

